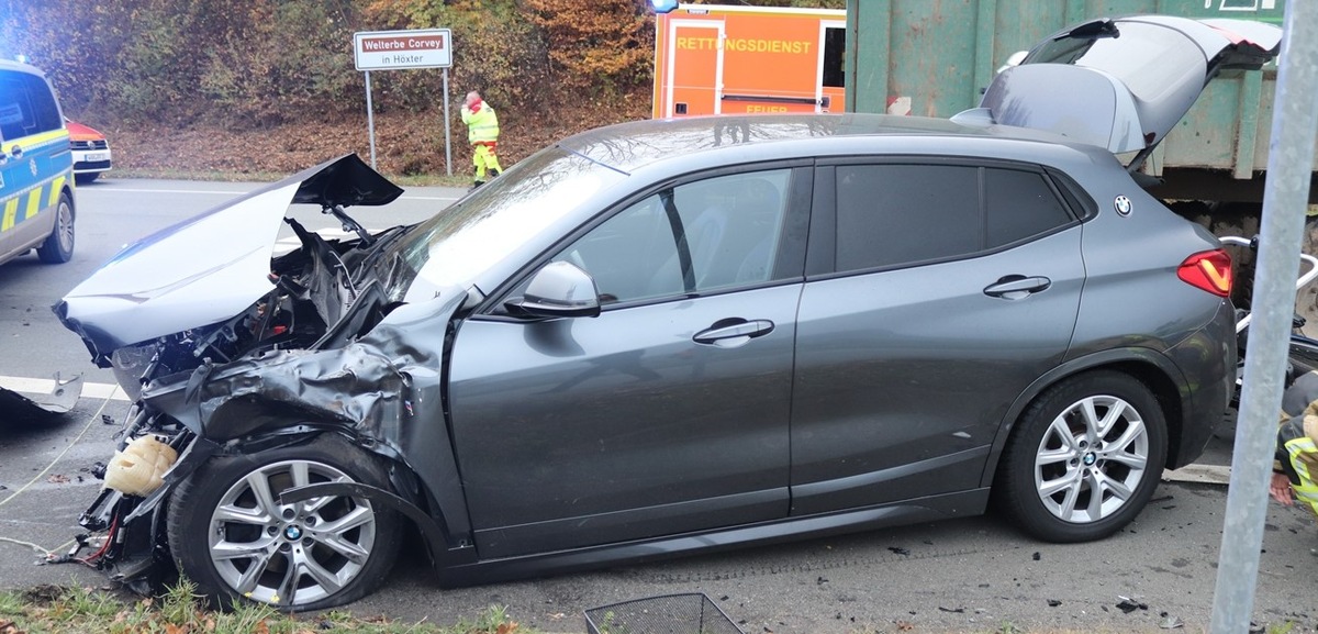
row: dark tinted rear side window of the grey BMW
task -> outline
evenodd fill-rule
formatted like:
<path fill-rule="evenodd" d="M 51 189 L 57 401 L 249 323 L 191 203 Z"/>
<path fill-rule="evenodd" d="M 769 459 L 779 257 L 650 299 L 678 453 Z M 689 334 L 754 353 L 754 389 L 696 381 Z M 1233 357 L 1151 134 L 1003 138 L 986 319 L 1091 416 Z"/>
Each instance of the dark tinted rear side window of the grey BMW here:
<path fill-rule="evenodd" d="M 840 165 L 837 272 L 967 257 L 1073 221 L 1044 174 L 973 165 Z"/>

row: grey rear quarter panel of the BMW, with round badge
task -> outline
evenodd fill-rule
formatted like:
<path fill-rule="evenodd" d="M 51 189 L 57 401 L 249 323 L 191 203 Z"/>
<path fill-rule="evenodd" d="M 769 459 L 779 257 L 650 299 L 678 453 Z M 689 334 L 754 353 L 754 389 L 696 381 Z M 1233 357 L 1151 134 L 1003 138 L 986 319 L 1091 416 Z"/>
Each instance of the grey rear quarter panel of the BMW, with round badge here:
<path fill-rule="evenodd" d="M 1093 194 L 1098 214 L 1083 224 L 1086 282 L 1064 365 L 1075 364 L 1078 372 L 1091 362 L 1130 364 L 1124 369 L 1162 401 L 1168 467 L 1178 468 L 1202 452 L 1235 377 L 1231 302 L 1177 277 L 1186 257 L 1219 243 L 1145 194 L 1119 166 L 1095 167 L 1069 170 Z M 1116 211 L 1118 196 L 1131 200 L 1128 215 Z"/>

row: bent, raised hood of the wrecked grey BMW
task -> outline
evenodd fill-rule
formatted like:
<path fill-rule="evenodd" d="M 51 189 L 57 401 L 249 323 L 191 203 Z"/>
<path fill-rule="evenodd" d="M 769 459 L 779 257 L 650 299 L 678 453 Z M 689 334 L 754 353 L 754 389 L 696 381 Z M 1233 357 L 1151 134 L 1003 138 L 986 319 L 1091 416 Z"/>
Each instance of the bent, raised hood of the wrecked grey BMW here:
<path fill-rule="evenodd" d="M 55 314 L 113 347 L 220 322 L 274 289 L 270 257 L 290 204 L 378 206 L 401 194 L 356 154 L 327 161 L 129 244 Z"/>

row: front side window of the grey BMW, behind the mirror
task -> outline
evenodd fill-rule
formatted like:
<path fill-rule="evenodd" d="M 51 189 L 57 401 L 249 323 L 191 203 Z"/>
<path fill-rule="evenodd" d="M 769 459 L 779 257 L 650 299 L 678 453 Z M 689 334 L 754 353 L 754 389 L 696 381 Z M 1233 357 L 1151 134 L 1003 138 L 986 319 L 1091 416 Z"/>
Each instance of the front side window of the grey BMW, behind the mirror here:
<path fill-rule="evenodd" d="M 774 279 L 791 170 L 709 178 L 652 194 L 563 249 L 602 303 Z"/>

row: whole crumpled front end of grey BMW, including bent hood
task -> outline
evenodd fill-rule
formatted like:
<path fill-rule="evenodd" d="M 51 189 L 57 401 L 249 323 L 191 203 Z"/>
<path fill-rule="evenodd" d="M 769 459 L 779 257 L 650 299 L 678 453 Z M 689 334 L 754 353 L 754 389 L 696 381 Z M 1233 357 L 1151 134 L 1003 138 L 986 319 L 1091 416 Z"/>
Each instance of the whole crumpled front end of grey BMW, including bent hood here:
<path fill-rule="evenodd" d="M 401 303 L 415 272 L 390 261 L 385 245 L 407 228 L 369 235 L 343 214 L 345 202 L 391 200 L 401 190 L 390 187 L 349 156 L 262 190 L 322 204 L 326 214 L 352 223 L 358 239 L 324 240 L 283 220 L 302 248 L 272 258 L 273 241 L 262 246 L 269 250 L 261 279 L 245 283 L 249 297 L 241 303 L 227 282 L 252 269 L 246 256 L 194 262 L 158 279 L 124 275 L 152 269 L 137 257 L 177 257 L 171 254 L 188 245 L 179 236 L 198 221 L 227 227 L 216 220 L 227 208 L 219 208 L 181 223 L 181 232 L 128 246 L 55 307 L 136 401 L 104 475 L 105 489 L 79 519 L 98 535 L 83 540 L 94 548 L 88 562 L 137 592 L 161 589 L 174 575 L 167 501 L 214 456 L 257 453 L 332 431 L 401 460 L 401 447 L 418 434 L 410 426 L 415 419 L 443 432 L 442 356 L 449 320 L 467 295 L 445 289 L 428 302 Z M 258 192 L 237 206 L 252 200 L 272 203 Z M 241 225 L 253 217 L 252 204 L 246 207 L 229 221 Z M 204 243 L 194 240 L 190 248 L 206 260 Z M 253 249 L 260 248 L 253 243 L 236 252 Z M 183 295 L 204 298 L 207 287 L 225 298 L 231 314 L 178 330 L 170 295 L 186 289 Z"/>

